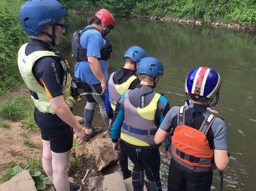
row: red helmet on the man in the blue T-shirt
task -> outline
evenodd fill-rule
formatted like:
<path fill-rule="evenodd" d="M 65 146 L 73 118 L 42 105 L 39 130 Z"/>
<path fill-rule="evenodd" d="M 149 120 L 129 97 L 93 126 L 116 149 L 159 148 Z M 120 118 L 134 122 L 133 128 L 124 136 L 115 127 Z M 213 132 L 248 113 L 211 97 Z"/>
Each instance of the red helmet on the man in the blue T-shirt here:
<path fill-rule="evenodd" d="M 95 16 L 102 21 L 102 25 L 105 29 L 106 27 L 113 28 L 115 26 L 115 19 L 109 10 L 102 8 L 96 12 Z"/>

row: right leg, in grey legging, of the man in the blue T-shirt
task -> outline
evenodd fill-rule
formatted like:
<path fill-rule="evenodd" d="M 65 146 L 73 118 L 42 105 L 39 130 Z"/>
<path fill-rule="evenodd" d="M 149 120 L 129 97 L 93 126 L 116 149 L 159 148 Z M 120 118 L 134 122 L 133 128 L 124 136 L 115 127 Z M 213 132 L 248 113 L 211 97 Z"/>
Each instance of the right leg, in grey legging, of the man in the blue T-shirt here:
<path fill-rule="evenodd" d="M 92 92 L 101 94 L 102 93 L 102 87 L 100 84 L 94 84 L 91 86 Z M 109 129 L 109 120 L 107 117 L 106 107 L 105 107 L 105 95 L 92 95 L 94 100 L 98 103 L 98 106 L 100 108 L 100 115 L 102 116 L 102 120 L 105 122 L 107 128 Z"/>

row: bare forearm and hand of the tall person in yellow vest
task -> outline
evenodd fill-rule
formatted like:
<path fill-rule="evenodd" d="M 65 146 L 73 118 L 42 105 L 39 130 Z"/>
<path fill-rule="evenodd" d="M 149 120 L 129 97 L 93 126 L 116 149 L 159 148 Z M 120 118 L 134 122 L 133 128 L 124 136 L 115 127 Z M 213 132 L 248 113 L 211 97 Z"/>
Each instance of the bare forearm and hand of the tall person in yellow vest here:
<path fill-rule="evenodd" d="M 79 138 L 83 140 L 83 137 L 85 136 L 85 131 L 83 131 L 80 124 L 78 123 L 78 120 L 76 120 L 70 108 L 68 107 L 68 105 L 66 105 L 63 95 L 53 97 L 49 100 L 55 114 L 57 114 L 57 116 L 59 116 L 61 120 L 70 125 L 70 127 L 74 128 L 76 134 L 78 134 Z"/>

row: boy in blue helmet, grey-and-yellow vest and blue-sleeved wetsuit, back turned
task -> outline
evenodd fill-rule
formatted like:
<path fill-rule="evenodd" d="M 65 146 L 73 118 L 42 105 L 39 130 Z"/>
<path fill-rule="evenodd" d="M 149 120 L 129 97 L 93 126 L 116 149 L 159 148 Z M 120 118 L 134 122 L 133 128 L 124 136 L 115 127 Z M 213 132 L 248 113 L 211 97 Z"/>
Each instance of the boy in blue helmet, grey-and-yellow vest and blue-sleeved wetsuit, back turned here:
<path fill-rule="evenodd" d="M 169 103 L 163 95 L 154 92 L 154 88 L 163 74 L 164 68 L 158 59 L 141 59 L 137 67 L 140 84 L 122 94 L 111 127 L 113 150 L 124 149 L 134 163 L 132 185 L 135 191 L 143 190 L 144 172 L 150 190 L 162 190 L 160 144 L 154 142 L 154 134 L 169 110 Z"/>

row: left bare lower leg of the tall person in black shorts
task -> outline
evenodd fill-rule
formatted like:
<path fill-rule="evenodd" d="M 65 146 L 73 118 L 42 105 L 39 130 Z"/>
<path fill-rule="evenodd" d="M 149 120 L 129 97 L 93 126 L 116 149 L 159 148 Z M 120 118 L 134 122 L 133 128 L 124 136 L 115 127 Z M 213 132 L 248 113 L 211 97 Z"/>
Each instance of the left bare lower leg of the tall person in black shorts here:
<path fill-rule="evenodd" d="M 53 168 L 51 166 L 51 149 L 50 149 L 50 141 L 42 140 L 43 143 L 43 153 L 42 153 L 42 166 L 44 168 L 44 172 L 50 178 L 53 183 Z"/>

